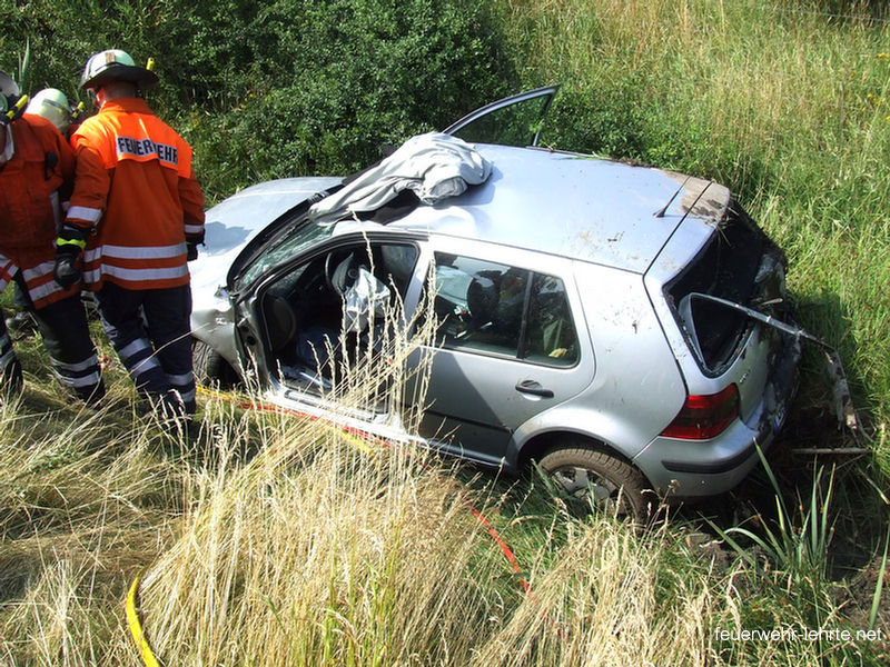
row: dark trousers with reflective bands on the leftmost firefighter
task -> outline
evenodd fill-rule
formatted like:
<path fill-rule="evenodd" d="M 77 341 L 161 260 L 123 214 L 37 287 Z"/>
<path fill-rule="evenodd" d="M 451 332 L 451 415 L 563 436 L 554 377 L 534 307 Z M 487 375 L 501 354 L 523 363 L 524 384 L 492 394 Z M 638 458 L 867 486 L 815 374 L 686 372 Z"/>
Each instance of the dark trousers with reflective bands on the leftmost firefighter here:
<path fill-rule="evenodd" d="M 22 305 L 37 322 L 49 352 L 52 370 L 59 382 L 77 394 L 82 400 L 97 404 L 105 396 L 99 359 L 90 339 L 87 312 L 79 296 L 68 297 L 34 309 L 21 272 L 16 275 Z M 6 359 L 6 361 L 3 361 Z M 6 327 L 6 318 L 0 317 L 0 372 L 9 389 L 21 389 L 21 366 L 12 352 L 12 342 Z"/>

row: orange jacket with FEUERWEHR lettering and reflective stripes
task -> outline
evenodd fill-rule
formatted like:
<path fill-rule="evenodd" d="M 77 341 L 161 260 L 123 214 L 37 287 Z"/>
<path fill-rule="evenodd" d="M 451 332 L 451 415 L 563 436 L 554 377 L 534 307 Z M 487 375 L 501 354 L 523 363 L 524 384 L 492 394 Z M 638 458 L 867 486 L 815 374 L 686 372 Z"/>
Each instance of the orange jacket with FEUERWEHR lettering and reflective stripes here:
<path fill-rule="evenodd" d="M 188 285 L 186 240 L 204 240 L 191 147 L 138 98 L 106 102 L 71 145 L 77 178 L 67 221 L 95 228 L 83 253 L 87 287 Z"/>

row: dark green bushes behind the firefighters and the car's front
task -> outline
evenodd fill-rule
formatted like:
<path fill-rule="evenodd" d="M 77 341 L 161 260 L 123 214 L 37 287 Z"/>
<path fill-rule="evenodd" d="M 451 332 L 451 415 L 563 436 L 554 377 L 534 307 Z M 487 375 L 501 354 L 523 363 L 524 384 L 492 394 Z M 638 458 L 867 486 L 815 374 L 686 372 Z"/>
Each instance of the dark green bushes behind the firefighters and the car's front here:
<path fill-rule="evenodd" d="M 210 201 L 260 179 L 347 173 L 515 89 L 469 0 L 34 0 L 0 9 L 6 57 L 28 40 L 34 92 L 73 94 L 87 58 L 156 60 L 151 104 L 196 152 Z M 7 62 L 9 61 L 9 62 Z"/>

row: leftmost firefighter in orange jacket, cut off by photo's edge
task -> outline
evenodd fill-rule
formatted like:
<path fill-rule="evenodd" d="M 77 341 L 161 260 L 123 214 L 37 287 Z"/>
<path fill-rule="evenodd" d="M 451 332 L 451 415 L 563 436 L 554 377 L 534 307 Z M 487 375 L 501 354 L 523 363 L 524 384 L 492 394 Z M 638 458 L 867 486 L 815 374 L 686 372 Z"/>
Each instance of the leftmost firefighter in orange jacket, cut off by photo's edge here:
<path fill-rule="evenodd" d="M 80 300 L 80 286 L 52 279 L 57 225 L 70 195 L 75 157 L 48 120 L 23 115 L 27 96 L 0 71 L 0 291 L 21 288 L 56 376 L 96 405 L 105 395 L 99 360 Z M 22 389 L 21 364 L 0 317 L 0 391 Z"/>

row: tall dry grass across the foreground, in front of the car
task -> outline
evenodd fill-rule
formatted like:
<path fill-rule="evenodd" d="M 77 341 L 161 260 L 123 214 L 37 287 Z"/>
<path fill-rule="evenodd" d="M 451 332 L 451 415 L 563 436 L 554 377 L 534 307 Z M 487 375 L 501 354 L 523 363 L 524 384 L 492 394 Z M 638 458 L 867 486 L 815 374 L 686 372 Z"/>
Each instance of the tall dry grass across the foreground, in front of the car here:
<path fill-rule="evenodd" d="M 214 394 L 184 446 L 129 407 L 116 364 L 109 407 L 88 412 L 46 381 L 33 344 L 20 347 L 28 390 L 0 411 L 9 665 L 136 664 L 125 597 L 137 575 L 167 665 L 821 667 L 890 651 L 854 636 L 738 638 L 854 633 L 871 614 L 887 628 L 882 579 L 857 596 L 823 576 L 827 540 L 819 577 L 792 577 L 767 552 L 738 557 L 694 512 L 644 532 L 582 520 L 534 476 L 500 480 Z M 378 390 L 360 360 L 349 377 L 362 380 L 347 405 Z M 249 400 L 261 406 L 237 399 Z"/>

